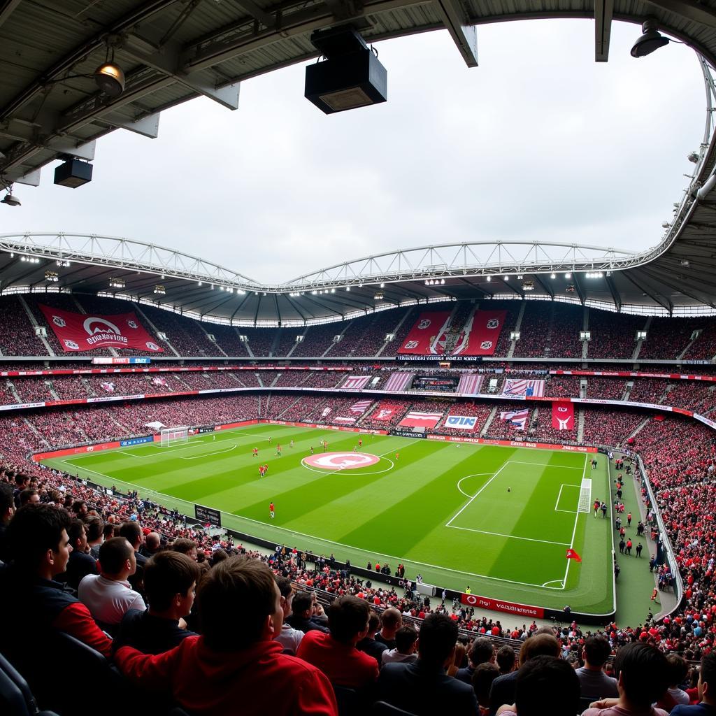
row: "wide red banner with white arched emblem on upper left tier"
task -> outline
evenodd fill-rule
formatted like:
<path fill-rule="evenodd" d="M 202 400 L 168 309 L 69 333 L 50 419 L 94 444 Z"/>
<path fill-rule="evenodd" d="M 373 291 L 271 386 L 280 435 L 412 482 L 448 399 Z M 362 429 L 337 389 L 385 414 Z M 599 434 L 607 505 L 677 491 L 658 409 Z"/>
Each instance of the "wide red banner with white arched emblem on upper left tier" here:
<path fill-rule="evenodd" d="M 163 353 L 157 340 L 148 334 L 134 313 L 102 316 L 77 314 L 39 305 L 62 349 L 67 352 L 95 348 L 135 348 Z"/>

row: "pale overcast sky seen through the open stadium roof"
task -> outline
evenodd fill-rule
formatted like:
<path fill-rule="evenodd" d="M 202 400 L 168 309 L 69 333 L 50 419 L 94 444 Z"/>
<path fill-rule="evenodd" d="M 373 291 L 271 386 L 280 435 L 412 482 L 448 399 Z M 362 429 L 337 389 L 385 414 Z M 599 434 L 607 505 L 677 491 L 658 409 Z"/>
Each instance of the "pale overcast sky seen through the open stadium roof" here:
<path fill-rule="evenodd" d="M 208 258 L 259 281 L 371 253 L 452 241 L 658 243 L 705 122 L 695 54 L 632 59 L 614 23 L 594 62 L 593 21 L 478 27 L 480 67 L 447 32 L 382 42 L 388 102 L 326 116 L 304 65 L 244 82 L 239 108 L 201 98 L 159 137 L 97 143 L 92 183 L 16 185 L 0 231 L 99 233 Z"/>

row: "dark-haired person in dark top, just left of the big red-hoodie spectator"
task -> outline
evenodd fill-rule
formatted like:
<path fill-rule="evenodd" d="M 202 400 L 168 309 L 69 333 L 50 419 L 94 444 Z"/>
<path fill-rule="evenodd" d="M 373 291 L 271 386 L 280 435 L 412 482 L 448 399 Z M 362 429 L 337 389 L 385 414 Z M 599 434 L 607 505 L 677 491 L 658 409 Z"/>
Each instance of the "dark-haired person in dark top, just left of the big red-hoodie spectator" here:
<path fill-rule="evenodd" d="M 185 554 L 164 551 L 153 556 L 144 576 L 149 608 L 127 610 L 114 648 L 129 646 L 142 654 L 162 654 L 195 636 L 185 628 L 184 617 L 194 604 L 198 578 L 197 563 Z"/>

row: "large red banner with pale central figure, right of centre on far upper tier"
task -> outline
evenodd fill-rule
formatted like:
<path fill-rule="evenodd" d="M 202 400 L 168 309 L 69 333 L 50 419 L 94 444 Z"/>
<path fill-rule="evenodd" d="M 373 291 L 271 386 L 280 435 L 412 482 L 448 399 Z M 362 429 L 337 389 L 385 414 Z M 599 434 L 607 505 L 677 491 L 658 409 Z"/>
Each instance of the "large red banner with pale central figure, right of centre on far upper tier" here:
<path fill-rule="evenodd" d="M 440 356 L 491 356 L 507 311 L 473 311 L 462 325 L 451 311 L 424 311 L 398 353 Z M 458 321 L 459 323 L 459 321 Z"/>

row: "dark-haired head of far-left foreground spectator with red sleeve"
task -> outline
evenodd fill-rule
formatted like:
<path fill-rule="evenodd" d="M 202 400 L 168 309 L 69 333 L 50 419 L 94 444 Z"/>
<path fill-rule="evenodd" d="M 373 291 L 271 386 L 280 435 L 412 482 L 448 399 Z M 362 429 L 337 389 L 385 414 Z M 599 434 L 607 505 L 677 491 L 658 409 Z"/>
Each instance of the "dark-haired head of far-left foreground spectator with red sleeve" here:
<path fill-rule="evenodd" d="M 25 505 L 10 521 L 7 533 L 11 555 L 22 571 L 52 579 L 67 567 L 70 517 L 53 505 Z"/>

